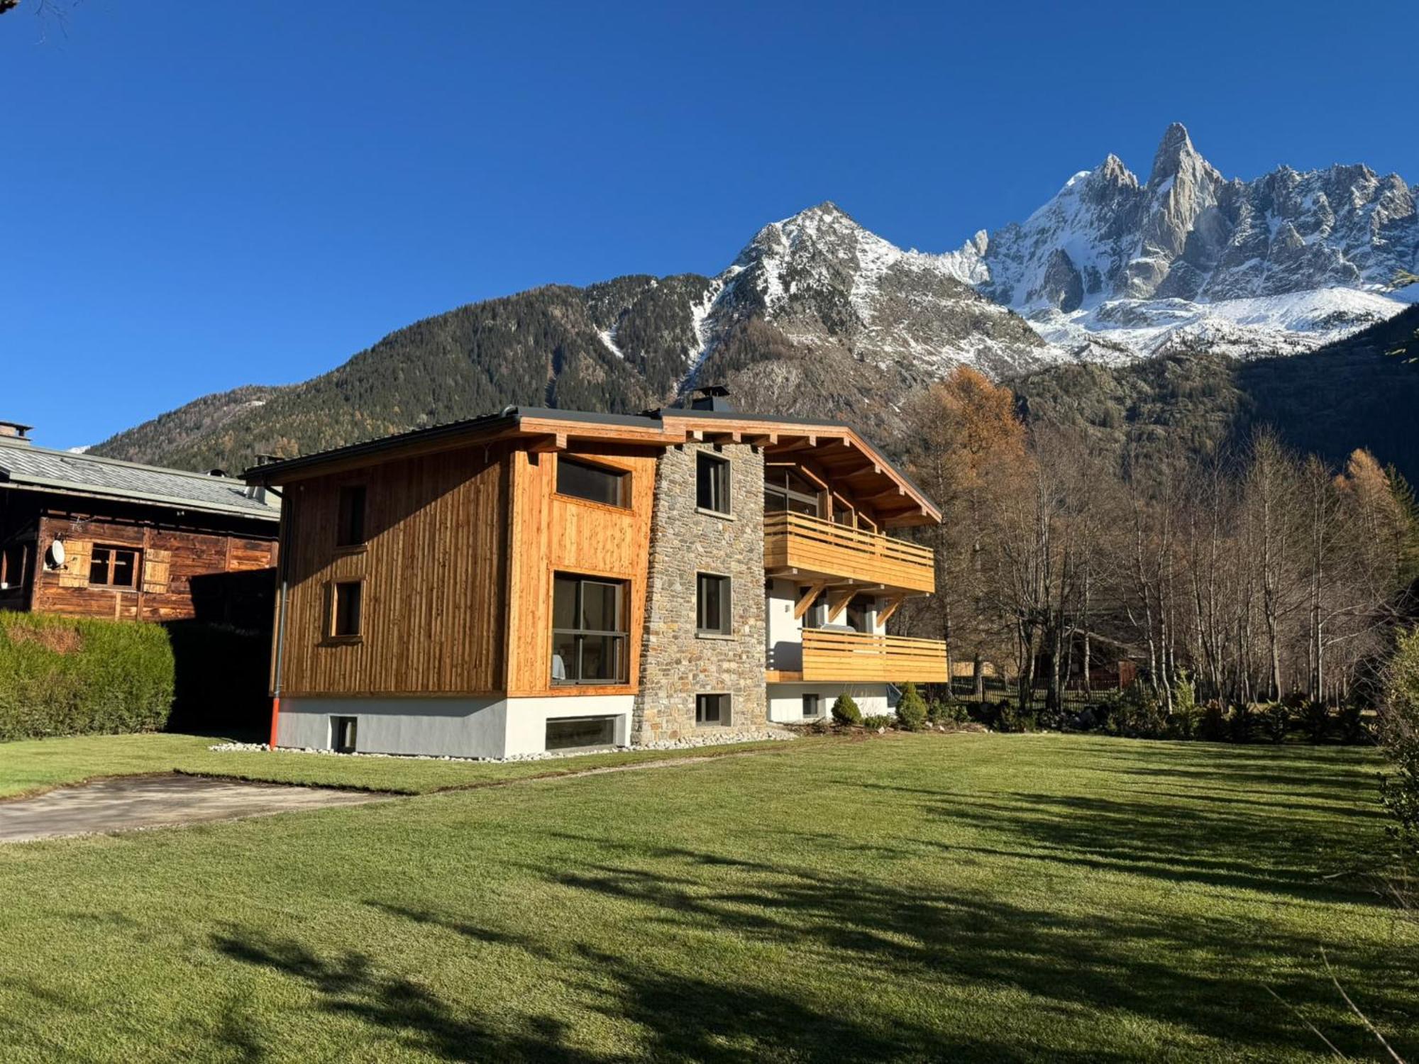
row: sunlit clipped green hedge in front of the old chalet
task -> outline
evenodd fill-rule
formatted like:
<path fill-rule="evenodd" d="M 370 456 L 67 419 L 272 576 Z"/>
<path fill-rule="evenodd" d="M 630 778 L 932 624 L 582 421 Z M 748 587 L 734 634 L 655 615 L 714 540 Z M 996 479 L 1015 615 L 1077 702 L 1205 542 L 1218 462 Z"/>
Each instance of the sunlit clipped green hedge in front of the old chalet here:
<path fill-rule="evenodd" d="M 160 729 L 173 675 L 156 624 L 0 611 L 0 741 Z"/>

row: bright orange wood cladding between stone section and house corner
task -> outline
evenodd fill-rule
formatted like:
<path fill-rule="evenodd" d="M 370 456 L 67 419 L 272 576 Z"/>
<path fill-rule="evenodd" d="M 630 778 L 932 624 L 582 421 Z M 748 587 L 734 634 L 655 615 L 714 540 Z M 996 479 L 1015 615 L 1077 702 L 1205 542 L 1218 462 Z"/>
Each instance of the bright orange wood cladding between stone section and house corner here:
<path fill-rule="evenodd" d="M 640 675 L 650 515 L 658 451 L 578 447 L 575 457 L 630 472 L 630 506 L 556 494 L 555 454 L 515 451 L 512 477 L 512 594 L 508 610 L 508 694 L 633 694 Z M 579 573 L 629 583 L 626 684 L 552 684 L 552 575 Z"/>

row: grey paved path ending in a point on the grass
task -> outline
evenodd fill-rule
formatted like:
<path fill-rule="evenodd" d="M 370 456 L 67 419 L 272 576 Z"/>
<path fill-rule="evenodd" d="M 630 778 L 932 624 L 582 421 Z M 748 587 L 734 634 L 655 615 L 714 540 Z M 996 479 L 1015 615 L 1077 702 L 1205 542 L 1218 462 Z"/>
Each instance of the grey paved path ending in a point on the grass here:
<path fill-rule="evenodd" d="M 0 843 L 385 802 L 386 794 L 200 776 L 125 776 L 0 802 Z"/>

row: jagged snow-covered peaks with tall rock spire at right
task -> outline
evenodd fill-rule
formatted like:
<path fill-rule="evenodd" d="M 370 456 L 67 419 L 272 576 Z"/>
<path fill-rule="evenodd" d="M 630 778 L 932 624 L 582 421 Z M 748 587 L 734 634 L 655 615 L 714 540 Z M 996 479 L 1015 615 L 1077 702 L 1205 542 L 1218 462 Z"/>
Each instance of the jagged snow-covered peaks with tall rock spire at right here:
<path fill-rule="evenodd" d="M 1175 123 L 1145 183 L 1110 155 L 942 260 L 1070 358 L 1305 350 L 1415 301 L 1416 196 L 1362 165 L 1225 179 Z"/>

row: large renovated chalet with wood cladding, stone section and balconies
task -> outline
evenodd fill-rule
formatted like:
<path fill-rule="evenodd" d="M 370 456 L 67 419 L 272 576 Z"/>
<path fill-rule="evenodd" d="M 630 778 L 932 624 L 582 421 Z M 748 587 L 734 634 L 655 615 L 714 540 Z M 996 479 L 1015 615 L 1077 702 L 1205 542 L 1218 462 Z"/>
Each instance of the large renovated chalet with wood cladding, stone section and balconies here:
<path fill-rule="evenodd" d="M 945 682 L 885 634 L 934 504 L 853 428 L 501 414 L 248 470 L 284 498 L 272 745 L 498 758 L 824 718 Z"/>

